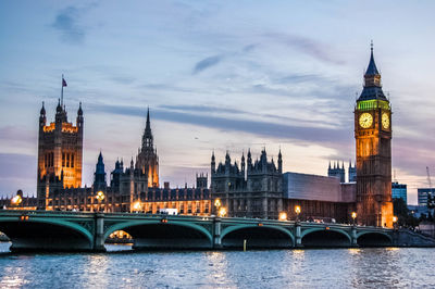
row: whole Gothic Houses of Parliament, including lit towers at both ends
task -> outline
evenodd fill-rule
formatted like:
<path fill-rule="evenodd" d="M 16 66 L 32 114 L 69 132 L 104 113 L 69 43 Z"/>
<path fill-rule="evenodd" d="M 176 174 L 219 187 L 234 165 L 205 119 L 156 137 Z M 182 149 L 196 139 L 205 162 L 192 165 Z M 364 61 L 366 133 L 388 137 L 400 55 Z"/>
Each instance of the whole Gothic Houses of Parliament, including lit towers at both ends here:
<path fill-rule="evenodd" d="M 349 112 L 350 113 L 350 112 Z M 78 105 L 76 124 L 69 122 L 65 106 L 59 102 L 54 122 L 47 123 L 42 103 L 39 115 L 36 198 L 22 198 L 20 204 L 0 200 L 9 209 L 61 211 L 103 211 L 159 213 L 176 209 L 179 214 L 216 214 L 215 201 L 226 216 L 278 218 L 286 212 L 300 219 L 357 222 L 369 226 L 393 226 L 391 202 L 391 110 L 381 85 L 373 47 L 364 85 L 355 106 L 356 164 L 349 165 L 348 180 L 341 163 L 330 163 L 328 176 L 283 172 L 283 155 L 276 164 L 265 148 L 254 160 L 251 150 L 232 162 L 227 151 L 216 164 L 213 152 L 209 174 L 197 174 L 196 186 L 161 187 L 159 156 L 151 131 L 150 111 L 138 154 L 129 163 L 116 161 L 107 179 L 100 152 L 91 187 L 82 187 L 84 112 Z"/>

